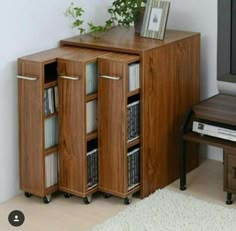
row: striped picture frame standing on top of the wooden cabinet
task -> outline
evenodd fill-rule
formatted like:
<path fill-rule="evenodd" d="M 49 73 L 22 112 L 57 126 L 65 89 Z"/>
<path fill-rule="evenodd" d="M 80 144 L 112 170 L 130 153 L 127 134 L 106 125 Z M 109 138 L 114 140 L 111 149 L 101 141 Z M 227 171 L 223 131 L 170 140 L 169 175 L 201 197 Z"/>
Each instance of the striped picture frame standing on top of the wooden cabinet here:
<path fill-rule="evenodd" d="M 169 1 L 148 0 L 141 36 L 163 40 L 170 9 Z"/>

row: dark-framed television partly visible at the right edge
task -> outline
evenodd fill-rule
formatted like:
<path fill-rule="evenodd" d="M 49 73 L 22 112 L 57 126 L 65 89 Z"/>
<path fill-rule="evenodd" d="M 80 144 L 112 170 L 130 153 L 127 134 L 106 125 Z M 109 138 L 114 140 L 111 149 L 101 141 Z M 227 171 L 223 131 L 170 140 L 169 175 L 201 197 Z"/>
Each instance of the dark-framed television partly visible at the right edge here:
<path fill-rule="evenodd" d="M 217 86 L 236 96 L 236 0 L 218 0 Z"/>

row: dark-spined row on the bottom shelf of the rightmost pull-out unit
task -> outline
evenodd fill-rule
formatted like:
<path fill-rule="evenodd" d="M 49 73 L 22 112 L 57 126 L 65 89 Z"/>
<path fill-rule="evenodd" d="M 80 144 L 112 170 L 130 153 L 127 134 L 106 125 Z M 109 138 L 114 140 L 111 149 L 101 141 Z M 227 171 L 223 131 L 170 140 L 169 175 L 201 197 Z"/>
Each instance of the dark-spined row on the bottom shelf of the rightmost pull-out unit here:
<path fill-rule="evenodd" d="M 128 152 L 128 190 L 140 183 L 140 148 Z"/>

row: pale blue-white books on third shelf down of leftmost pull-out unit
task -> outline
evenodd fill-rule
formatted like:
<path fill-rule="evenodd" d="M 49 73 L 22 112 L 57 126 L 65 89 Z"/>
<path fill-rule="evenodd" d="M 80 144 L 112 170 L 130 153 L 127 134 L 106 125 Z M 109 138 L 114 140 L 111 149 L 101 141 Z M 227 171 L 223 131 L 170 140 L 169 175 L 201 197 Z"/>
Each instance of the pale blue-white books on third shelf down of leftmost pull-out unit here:
<path fill-rule="evenodd" d="M 49 117 L 44 121 L 45 148 L 50 148 L 58 144 L 58 117 Z"/>

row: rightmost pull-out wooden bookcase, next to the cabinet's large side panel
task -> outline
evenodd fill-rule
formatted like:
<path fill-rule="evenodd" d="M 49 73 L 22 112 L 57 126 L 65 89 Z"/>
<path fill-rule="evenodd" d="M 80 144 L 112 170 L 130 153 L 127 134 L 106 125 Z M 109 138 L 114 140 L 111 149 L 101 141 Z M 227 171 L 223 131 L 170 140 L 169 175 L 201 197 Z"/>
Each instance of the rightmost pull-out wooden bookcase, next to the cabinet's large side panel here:
<path fill-rule="evenodd" d="M 139 136 L 128 142 L 128 102 L 140 98 L 139 89 L 128 92 L 129 65 L 138 55 L 109 53 L 98 58 L 99 70 L 99 190 L 124 198 L 140 190 L 128 189 L 128 149 L 139 146 Z"/>

